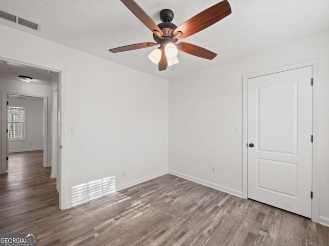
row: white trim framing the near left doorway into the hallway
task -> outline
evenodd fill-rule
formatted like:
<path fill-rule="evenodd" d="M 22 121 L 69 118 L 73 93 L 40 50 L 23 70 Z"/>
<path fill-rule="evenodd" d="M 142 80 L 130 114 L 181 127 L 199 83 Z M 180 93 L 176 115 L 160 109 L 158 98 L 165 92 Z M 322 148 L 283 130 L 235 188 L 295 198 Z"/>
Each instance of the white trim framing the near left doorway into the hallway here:
<path fill-rule="evenodd" d="M 30 60 L 17 60 L 12 57 L 2 57 L 0 56 L 0 59 L 5 60 L 5 61 L 11 61 L 14 63 L 19 63 L 22 65 L 27 65 L 35 68 L 41 68 L 41 69 L 47 69 L 49 71 L 53 72 L 59 72 L 60 73 L 60 79 L 59 79 L 59 116 L 60 116 L 60 141 L 57 143 L 58 146 L 62 146 L 62 143 L 65 143 L 65 69 L 56 67 L 50 64 L 46 63 L 35 63 L 34 61 Z M 2 148 L 3 149 L 3 148 Z M 59 151 L 59 159 L 58 159 L 58 165 L 61 167 L 60 168 L 60 190 L 59 190 L 59 208 L 60 209 L 66 209 L 66 162 L 65 162 L 65 146 L 64 148 L 60 149 L 58 148 Z"/>

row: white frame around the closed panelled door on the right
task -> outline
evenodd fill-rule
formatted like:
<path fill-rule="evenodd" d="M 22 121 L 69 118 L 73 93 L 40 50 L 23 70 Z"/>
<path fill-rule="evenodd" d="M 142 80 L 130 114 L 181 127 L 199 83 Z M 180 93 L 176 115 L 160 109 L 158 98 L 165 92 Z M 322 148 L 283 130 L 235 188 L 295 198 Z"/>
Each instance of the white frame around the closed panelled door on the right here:
<path fill-rule="evenodd" d="M 243 76 L 243 122 L 242 122 L 242 194 L 243 198 L 248 198 L 248 152 L 247 152 L 247 129 L 248 129 L 248 79 L 264 76 L 273 73 L 284 72 L 287 70 L 297 69 L 312 66 L 313 72 L 313 174 L 312 174 L 312 220 L 314 222 L 319 222 L 319 212 L 320 212 L 320 168 L 318 163 L 318 105 L 319 105 L 319 91 L 320 83 L 318 80 L 318 59 L 307 60 L 302 63 L 287 65 L 279 68 L 274 68 L 270 70 L 260 71 L 252 74 L 247 74 Z M 311 81 L 309 81 L 311 83 Z"/>

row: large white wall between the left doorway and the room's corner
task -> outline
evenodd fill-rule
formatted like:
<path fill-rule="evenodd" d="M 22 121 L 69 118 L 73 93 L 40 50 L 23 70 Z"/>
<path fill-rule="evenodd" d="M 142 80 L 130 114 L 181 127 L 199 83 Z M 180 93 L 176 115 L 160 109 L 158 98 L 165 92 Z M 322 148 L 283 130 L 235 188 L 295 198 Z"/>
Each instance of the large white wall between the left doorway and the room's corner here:
<path fill-rule="evenodd" d="M 121 189 L 168 172 L 167 80 L 4 26 L 0 33 L 0 57 L 64 72 L 63 130 L 75 131 L 62 142 L 67 206 L 83 183 L 115 176 Z"/>

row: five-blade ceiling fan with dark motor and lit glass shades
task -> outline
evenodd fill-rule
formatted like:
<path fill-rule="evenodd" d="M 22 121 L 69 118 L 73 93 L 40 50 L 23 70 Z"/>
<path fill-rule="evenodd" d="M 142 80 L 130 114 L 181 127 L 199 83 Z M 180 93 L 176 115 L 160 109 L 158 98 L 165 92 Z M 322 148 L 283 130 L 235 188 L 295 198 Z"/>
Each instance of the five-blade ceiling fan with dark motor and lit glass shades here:
<path fill-rule="evenodd" d="M 186 42 L 176 42 L 180 39 L 189 37 L 207 27 L 219 22 L 221 19 L 228 16 L 232 11 L 227 0 L 213 5 L 212 7 L 193 16 L 187 22 L 177 27 L 171 23 L 174 18 L 174 13 L 170 9 L 163 9 L 160 12 L 162 23 L 156 25 L 150 16 L 147 15 L 133 0 L 120 0 L 136 17 L 153 32 L 154 42 L 145 42 L 134 45 L 122 46 L 110 49 L 112 53 L 136 50 L 141 48 L 160 45 L 159 48 L 153 50 L 149 58 L 155 64 L 158 64 L 159 71 L 167 69 L 167 66 L 178 63 L 178 50 L 195 55 L 198 57 L 213 59 L 217 54 L 205 48 L 192 45 Z"/>

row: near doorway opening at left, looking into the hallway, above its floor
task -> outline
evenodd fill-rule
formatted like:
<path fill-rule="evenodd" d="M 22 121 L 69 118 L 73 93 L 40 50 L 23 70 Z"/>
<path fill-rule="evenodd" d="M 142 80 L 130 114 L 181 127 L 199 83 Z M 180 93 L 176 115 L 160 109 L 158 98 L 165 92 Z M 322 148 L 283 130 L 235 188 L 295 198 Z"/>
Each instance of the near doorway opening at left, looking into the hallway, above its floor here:
<path fill-rule="evenodd" d="M 21 75 L 32 79 L 23 80 Z M 61 81 L 60 70 L 0 58 L 0 175 L 10 174 L 11 157 L 16 167 L 19 167 L 17 160 L 20 158 L 32 162 L 38 159 L 35 162 L 42 163 L 40 170 L 51 169 L 49 178 L 56 184 L 59 207 L 65 209 L 60 148 Z"/>

